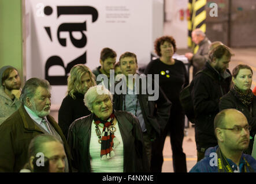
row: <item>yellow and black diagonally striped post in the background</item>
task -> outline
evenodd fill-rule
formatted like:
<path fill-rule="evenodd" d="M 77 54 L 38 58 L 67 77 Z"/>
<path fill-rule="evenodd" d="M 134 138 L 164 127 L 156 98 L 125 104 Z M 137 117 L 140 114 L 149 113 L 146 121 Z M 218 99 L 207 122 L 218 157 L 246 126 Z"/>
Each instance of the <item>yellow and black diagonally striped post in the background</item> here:
<path fill-rule="evenodd" d="M 200 28 L 206 32 L 206 0 L 188 0 L 188 9 L 190 10 L 190 20 L 188 20 L 188 47 L 196 53 L 198 46 L 192 42 L 191 33 L 194 29 Z"/>

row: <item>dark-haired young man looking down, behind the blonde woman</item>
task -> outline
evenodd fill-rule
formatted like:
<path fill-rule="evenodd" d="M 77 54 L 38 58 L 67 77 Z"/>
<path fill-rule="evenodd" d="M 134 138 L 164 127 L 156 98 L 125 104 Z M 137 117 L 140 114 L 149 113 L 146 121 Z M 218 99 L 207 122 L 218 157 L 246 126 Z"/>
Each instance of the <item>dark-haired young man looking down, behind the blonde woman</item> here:
<path fill-rule="evenodd" d="M 116 52 L 113 51 L 111 48 L 103 48 L 102 49 L 101 57 L 99 59 L 99 63 L 101 63 L 101 66 L 92 70 L 92 73 L 96 77 L 97 85 L 99 85 L 99 83 L 101 83 L 101 82 L 103 83 L 104 78 L 101 74 L 104 74 L 108 79 L 108 84 L 106 85 L 106 83 L 103 83 L 103 85 L 109 89 L 110 70 L 114 70 L 114 64 L 116 63 L 116 57 L 117 57 Z M 99 77 L 97 79 L 98 75 L 101 75 L 101 77 Z"/>

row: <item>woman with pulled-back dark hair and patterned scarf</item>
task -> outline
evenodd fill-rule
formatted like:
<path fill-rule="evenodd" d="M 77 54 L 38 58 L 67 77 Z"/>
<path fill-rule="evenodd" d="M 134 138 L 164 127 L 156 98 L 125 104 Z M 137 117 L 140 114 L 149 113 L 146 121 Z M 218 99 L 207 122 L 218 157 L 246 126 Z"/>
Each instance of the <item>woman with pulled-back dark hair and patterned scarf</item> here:
<path fill-rule="evenodd" d="M 251 91 L 253 70 L 250 66 L 239 64 L 232 71 L 231 90 L 220 99 L 219 108 L 237 109 L 246 116 L 251 126 L 250 144 L 246 154 L 251 155 L 253 138 L 256 133 L 256 97 Z"/>

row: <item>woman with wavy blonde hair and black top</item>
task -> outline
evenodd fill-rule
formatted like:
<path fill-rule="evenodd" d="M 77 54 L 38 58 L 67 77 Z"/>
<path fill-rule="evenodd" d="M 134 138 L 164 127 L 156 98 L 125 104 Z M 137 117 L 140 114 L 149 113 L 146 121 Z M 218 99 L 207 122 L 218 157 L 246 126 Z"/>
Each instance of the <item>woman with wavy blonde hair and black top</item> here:
<path fill-rule="evenodd" d="M 58 124 L 65 137 L 68 138 L 68 128 L 73 121 L 91 114 L 84 105 L 84 94 L 87 90 L 96 86 L 95 75 L 84 64 L 77 64 L 71 68 L 68 77 L 68 91 L 61 103 L 58 113 Z"/>

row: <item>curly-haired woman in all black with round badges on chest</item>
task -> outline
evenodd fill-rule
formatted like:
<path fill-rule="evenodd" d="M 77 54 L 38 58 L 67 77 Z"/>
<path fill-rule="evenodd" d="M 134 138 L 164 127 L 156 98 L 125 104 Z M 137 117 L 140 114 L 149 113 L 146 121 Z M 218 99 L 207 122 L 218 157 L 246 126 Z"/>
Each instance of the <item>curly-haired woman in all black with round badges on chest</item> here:
<path fill-rule="evenodd" d="M 164 162 L 162 150 L 165 138 L 169 133 L 174 171 L 185 173 L 187 172 L 187 165 L 182 148 L 185 114 L 180 104 L 179 95 L 180 91 L 189 83 L 188 74 L 184 63 L 172 58 L 176 52 L 176 43 L 172 36 L 159 37 L 155 40 L 154 45 L 155 52 L 159 58 L 151 61 L 144 73 L 159 75 L 159 86 L 172 102 L 172 108 L 170 109 L 168 124 L 164 128 L 162 136 L 153 143 L 151 171 L 161 172 L 162 170 L 162 163 Z"/>

